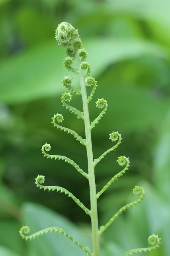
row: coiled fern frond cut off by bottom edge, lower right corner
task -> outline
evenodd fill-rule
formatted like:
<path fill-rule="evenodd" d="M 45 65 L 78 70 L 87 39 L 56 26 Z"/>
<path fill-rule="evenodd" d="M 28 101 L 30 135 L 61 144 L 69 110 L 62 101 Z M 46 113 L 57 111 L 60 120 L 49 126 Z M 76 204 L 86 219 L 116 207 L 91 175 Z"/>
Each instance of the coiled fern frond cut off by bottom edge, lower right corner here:
<path fill-rule="evenodd" d="M 148 242 L 151 245 L 150 247 L 129 250 L 128 252 L 126 252 L 124 254 L 124 256 L 132 255 L 133 253 L 137 254 L 138 252 L 140 252 L 140 253 L 148 252 L 148 251 L 150 252 L 151 250 L 154 250 L 160 246 L 160 244 L 161 244 L 160 240 L 161 240 L 161 238 L 159 238 L 158 235 L 152 234 L 148 238 Z"/>

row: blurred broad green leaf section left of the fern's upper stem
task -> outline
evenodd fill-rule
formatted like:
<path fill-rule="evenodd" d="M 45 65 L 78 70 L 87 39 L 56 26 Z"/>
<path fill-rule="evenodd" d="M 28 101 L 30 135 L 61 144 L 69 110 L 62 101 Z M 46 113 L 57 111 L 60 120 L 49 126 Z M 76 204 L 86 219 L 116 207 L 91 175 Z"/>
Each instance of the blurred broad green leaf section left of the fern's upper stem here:
<path fill-rule="evenodd" d="M 54 40 L 6 60 L 0 67 L 0 100 L 13 104 L 61 92 L 63 55 Z"/>

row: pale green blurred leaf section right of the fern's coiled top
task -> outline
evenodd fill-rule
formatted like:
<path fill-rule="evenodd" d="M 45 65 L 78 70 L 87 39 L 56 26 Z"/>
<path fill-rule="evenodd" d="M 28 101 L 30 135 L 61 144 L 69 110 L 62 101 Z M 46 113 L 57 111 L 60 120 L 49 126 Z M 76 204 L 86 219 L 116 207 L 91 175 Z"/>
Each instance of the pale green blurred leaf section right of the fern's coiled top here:
<path fill-rule="evenodd" d="M 111 38 L 91 38 L 85 40 L 88 60 L 92 65 L 92 72 L 101 74 L 107 66 L 122 60 L 153 55 L 167 58 L 164 48 L 144 40 L 118 40 Z M 95 74 L 95 75 L 96 75 Z"/>

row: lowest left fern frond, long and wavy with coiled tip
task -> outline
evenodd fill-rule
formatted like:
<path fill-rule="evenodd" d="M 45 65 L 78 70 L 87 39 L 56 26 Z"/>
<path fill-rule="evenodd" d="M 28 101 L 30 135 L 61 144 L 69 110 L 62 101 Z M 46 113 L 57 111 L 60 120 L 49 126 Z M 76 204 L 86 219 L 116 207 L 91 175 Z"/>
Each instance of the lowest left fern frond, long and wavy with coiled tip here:
<path fill-rule="evenodd" d="M 64 236 L 66 236 L 67 238 L 69 238 L 74 244 L 76 244 L 76 246 L 78 246 L 79 248 L 81 248 L 84 252 L 86 252 L 89 256 L 92 256 L 92 252 L 90 252 L 90 249 L 87 247 L 82 246 L 79 242 L 77 242 L 76 240 L 74 240 L 74 238 L 72 238 L 72 236 L 70 236 L 65 230 L 63 230 L 63 228 L 58 228 L 58 227 L 50 227 L 50 228 L 45 228 L 43 230 L 40 230 L 38 232 L 35 232 L 34 234 L 31 235 L 27 235 L 29 233 L 30 229 L 28 226 L 23 226 L 19 233 L 21 235 L 21 237 L 23 239 L 27 240 L 32 240 L 35 239 L 39 236 L 42 236 L 43 234 L 48 234 L 49 232 L 59 232 L 60 234 L 63 234 Z"/>

